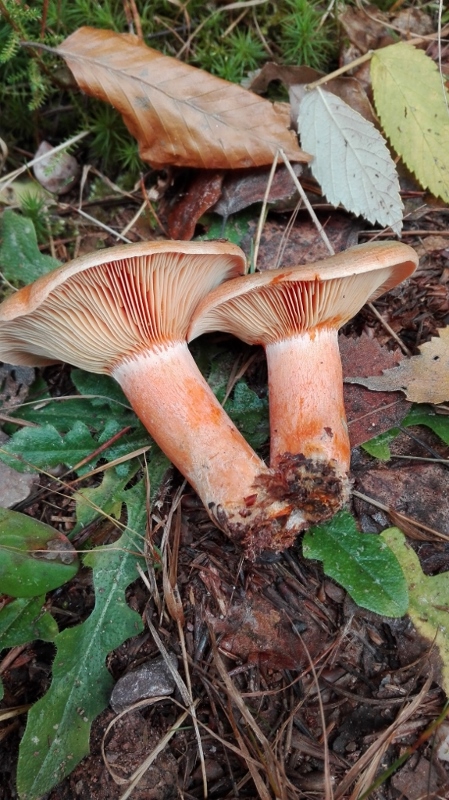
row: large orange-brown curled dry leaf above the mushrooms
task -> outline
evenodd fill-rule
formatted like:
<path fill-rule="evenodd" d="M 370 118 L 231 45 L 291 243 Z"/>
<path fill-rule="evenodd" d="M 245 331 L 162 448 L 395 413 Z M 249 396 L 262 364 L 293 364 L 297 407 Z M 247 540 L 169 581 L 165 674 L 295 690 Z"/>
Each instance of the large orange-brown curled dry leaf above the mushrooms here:
<path fill-rule="evenodd" d="M 84 27 L 59 47 L 78 85 L 111 103 L 155 168 L 271 164 L 279 147 L 308 161 L 289 110 L 147 47 L 137 36 Z"/>

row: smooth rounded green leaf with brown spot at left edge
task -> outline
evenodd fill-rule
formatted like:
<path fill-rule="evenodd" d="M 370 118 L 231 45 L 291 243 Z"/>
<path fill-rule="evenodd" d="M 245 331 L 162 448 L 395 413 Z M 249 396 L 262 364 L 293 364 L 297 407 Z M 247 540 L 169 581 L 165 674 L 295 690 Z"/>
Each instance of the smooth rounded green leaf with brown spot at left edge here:
<path fill-rule="evenodd" d="M 11 597 L 37 597 L 66 583 L 79 568 L 76 550 L 50 525 L 0 508 L 0 587 Z"/>

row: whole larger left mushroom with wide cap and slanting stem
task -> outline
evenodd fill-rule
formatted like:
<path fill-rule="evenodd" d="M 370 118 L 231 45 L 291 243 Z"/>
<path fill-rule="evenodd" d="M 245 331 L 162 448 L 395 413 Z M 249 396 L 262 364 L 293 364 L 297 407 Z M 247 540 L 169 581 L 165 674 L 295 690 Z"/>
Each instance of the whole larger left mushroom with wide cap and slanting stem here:
<path fill-rule="evenodd" d="M 242 251 L 225 242 L 149 242 L 82 256 L 0 305 L 0 359 L 67 361 L 112 375 L 214 523 L 254 555 L 284 527 L 292 539 L 295 515 L 276 485 L 273 494 L 271 470 L 228 418 L 186 342 L 199 301 L 244 270 Z"/>

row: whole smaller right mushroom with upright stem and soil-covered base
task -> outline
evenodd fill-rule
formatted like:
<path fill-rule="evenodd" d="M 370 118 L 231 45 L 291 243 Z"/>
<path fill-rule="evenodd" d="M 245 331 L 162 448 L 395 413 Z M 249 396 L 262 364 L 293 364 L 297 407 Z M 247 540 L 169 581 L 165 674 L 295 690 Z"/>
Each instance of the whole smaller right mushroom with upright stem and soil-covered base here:
<path fill-rule="evenodd" d="M 234 278 L 194 312 L 188 341 L 220 330 L 264 346 L 270 466 L 288 496 L 298 493 L 304 527 L 331 517 L 349 497 L 338 329 L 417 262 L 400 242 L 362 244 L 313 264 Z"/>

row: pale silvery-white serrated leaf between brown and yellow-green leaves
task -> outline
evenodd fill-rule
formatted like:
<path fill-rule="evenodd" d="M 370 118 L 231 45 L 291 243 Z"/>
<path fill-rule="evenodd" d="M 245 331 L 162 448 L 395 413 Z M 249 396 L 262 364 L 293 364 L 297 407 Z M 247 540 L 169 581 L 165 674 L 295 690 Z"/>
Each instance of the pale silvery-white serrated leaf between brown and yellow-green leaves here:
<path fill-rule="evenodd" d="M 311 170 L 327 199 L 399 234 L 398 175 L 377 128 L 320 88 L 301 100 L 298 128 L 303 147 L 315 156 Z"/>

